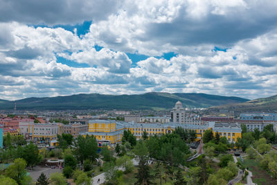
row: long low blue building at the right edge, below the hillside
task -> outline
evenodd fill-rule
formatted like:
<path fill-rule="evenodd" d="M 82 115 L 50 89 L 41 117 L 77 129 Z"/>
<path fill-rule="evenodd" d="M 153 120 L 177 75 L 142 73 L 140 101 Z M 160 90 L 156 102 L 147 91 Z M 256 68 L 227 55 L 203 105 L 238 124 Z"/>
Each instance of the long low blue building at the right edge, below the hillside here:
<path fill-rule="evenodd" d="M 277 121 L 276 113 L 242 113 L 240 120 L 247 121 Z"/>

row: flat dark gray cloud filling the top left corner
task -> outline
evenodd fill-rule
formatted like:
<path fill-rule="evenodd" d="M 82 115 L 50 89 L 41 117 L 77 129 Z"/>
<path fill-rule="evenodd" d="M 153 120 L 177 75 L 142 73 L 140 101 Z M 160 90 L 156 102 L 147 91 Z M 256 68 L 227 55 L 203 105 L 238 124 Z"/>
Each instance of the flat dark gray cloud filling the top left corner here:
<path fill-rule="evenodd" d="M 26 24 L 77 24 L 104 19 L 118 8 L 118 1 L 103 0 L 1 0 L 0 21 Z"/>

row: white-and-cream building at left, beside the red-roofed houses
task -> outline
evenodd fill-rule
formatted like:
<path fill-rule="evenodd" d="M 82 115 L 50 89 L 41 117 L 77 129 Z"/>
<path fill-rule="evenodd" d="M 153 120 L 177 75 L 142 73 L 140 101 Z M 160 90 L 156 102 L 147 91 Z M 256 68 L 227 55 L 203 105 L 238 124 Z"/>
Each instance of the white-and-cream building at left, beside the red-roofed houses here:
<path fill-rule="evenodd" d="M 62 123 L 19 122 L 19 133 L 26 139 L 51 141 L 57 139 L 57 134 L 62 134 L 62 127 Z"/>

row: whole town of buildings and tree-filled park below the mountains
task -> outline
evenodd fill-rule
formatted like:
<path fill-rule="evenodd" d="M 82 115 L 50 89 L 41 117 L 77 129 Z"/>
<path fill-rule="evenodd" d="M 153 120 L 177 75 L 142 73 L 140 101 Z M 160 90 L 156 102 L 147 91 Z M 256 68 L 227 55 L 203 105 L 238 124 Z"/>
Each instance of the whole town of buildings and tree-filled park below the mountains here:
<path fill-rule="evenodd" d="M 277 113 L 232 113 L 180 101 L 160 112 L 15 105 L 0 116 L 0 182 L 276 184 Z"/>

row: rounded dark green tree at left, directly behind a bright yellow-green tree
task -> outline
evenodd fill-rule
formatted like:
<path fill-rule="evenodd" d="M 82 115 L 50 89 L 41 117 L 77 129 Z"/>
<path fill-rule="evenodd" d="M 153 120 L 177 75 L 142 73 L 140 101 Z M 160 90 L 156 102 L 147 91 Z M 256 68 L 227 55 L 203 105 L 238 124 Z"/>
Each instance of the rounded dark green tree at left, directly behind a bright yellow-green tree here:
<path fill-rule="evenodd" d="M 39 149 L 33 143 L 24 147 L 22 157 L 26 160 L 27 166 L 30 166 L 31 168 L 42 161 L 42 155 L 39 154 Z"/>

